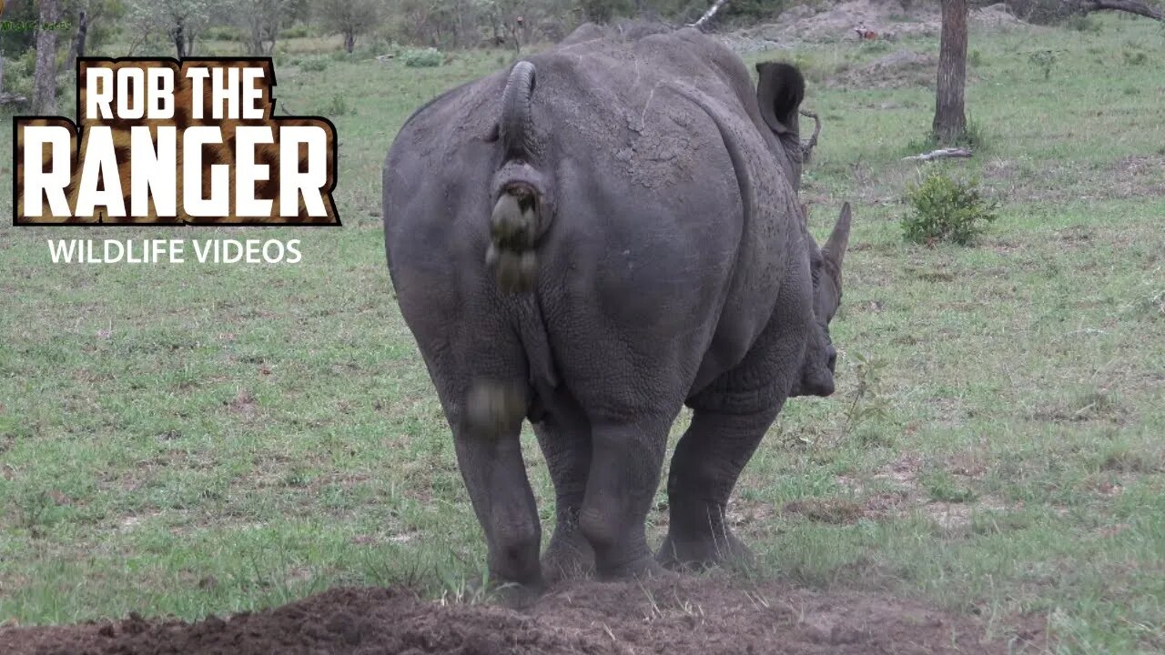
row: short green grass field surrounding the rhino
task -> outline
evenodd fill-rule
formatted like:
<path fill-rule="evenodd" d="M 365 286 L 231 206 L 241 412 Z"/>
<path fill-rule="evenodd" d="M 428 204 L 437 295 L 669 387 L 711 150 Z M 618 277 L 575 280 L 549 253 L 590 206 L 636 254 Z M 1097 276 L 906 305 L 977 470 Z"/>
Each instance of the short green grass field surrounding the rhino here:
<path fill-rule="evenodd" d="M 937 167 L 1000 202 L 975 248 L 898 227 L 905 183 L 935 168 L 901 160 L 931 90 L 811 87 L 814 232 L 856 207 L 839 389 L 790 402 L 744 471 L 732 510 L 755 575 L 919 596 L 998 631 L 1035 617 L 1055 653 L 1165 649 L 1165 86 L 1121 55 L 1165 33 L 1097 22 L 972 35 L 984 149 Z M 1039 48 L 1073 65 L 1045 79 Z M 253 234 L 302 239 L 299 265 L 54 266 L 50 238 L 191 234 L 0 225 L 0 621 L 193 619 L 340 584 L 475 593 L 482 538 L 389 287 L 380 165 L 414 108 L 507 57 L 277 62 L 281 110 L 346 110 L 345 227 Z"/>

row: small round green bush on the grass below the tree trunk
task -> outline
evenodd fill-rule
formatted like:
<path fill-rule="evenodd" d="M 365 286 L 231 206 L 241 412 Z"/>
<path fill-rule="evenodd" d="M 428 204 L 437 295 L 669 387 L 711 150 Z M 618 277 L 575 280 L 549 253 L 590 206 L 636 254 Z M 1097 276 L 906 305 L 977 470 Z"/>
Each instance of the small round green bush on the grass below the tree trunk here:
<path fill-rule="evenodd" d="M 982 197 L 975 182 L 963 183 L 932 172 L 906 189 L 913 211 L 902 218 L 908 241 L 952 241 L 966 246 L 995 220 L 996 204 Z"/>

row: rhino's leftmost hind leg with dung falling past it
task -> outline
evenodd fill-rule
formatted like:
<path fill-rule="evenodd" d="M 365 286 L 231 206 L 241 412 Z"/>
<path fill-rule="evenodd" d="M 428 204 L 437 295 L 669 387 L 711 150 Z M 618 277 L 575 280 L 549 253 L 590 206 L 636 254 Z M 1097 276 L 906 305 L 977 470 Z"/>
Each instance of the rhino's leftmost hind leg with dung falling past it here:
<path fill-rule="evenodd" d="M 454 425 L 458 466 L 486 533 L 489 575 L 517 583 L 520 594 L 544 587 L 538 565 L 542 533 L 538 508 L 522 460 L 520 434 L 525 390 L 518 385 L 478 382 L 466 399 L 466 416 Z"/>

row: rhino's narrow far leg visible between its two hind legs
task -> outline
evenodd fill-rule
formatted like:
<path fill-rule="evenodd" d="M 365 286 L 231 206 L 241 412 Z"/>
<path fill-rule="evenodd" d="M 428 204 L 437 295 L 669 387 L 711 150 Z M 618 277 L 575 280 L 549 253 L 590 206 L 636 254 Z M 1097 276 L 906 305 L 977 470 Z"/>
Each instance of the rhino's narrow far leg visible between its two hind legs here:
<path fill-rule="evenodd" d="M 594 549 L 579 529 L 579 513 L 591 467 L 591 425 L 577 408 L 560 409 L 535 423 L 538 446 L 555 483 L 556 524 L 542 556 L 548 582 L 586 577 L 594 571 Z"/>

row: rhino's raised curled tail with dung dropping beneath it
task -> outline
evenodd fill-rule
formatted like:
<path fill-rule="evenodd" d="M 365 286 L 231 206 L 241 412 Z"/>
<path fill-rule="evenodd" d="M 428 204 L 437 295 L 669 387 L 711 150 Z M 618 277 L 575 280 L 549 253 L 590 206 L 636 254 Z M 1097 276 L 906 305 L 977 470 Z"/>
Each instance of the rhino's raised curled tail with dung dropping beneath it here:
<path fill-rule="evenodd" d="M 514 65 L 502 91 L 499 136 L 504 157 L 494 176 L 486 265 L 508 294 L 534 289 L 538 268 L 535 247 L 551 216 L 549 183 L 537 168 L 539 150 L 530 111 L 534 87 L 534 64 L 522 61 Z"/>

